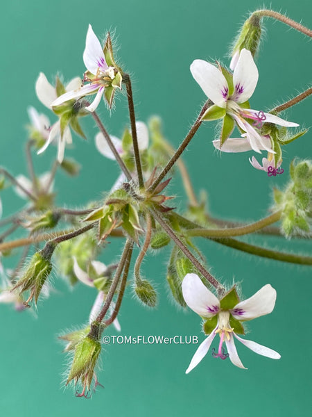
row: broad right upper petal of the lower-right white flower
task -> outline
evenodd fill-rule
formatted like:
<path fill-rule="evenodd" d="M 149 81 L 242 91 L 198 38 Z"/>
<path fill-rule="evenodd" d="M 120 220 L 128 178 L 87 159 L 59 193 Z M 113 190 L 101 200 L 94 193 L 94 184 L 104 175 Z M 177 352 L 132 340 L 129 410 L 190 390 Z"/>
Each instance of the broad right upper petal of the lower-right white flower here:
<path fill-rule="evenodd" d="M 252 297 L 239 302 L 231 313 L 238 320 L 252 320 L 271 313 L 275 306 L 275 300 L 275 289 L 270 284 L 266 284 Z"/>

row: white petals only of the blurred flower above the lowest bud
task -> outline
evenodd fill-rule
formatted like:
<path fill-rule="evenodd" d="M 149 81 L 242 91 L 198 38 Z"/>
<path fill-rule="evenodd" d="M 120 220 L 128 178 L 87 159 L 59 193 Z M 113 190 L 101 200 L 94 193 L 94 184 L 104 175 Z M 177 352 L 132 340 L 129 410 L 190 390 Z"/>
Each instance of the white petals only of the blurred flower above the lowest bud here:
<path fill-rule="evenodd" d="M 94 271 L 96 272 L 96 275 L 98 275 L 98 277 L 105 277 L 105 272 L 107 270 L 107 267 L 103 262 L 91 261 L 91 265 L 92 265 L 92 268 L 94 268 Z M 75 272 L 76 277 L 79 279 L 79 281 L 83 282 L 83 284 L 87 286 L 95 287 L 94 279 L 89 277 L 87 272 L 85 272 L 84 270 L 80 268 L 76 258 L 73 258 L 73 272 Z M 94 304 L 92 306 L 92 309 L 89 315 L 90 324 L 96 319 L 96 317 L 98 316 L 98 313 L 100 313 L 103 303 L 105 302 L 106 295 L 107 294 L 104 291 L 98 291 L 98 295 L 96 296 L 96 299 L 94 301 Z M 109 308 L 110 313 L 114 311 L 114 308 L 115 308 L 115 303 L 112 301 L 110 304 L 110 308 Z M 115 318 L 112 324 L 114 325 L 117 332 L 121 331 L 121 325 L 119 324 L 118 318 Z"/>

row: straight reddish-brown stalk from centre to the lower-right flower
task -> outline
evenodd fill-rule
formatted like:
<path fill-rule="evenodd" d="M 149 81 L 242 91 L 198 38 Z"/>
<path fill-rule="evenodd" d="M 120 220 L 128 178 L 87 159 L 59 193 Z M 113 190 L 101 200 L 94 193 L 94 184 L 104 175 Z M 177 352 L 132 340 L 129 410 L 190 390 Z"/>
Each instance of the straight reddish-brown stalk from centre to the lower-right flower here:
<path fill-rule="evenodd" d="M 164 229 L 166 234 L 173 240 L 175 245 L 177 245 L 180 250 L 184 253 L 187 258 L 193 263 L 193 265 L 198 269 L 198 271 L 209 281 L 209 283 L 216 288 L 218 293 L 222 293 L 224 288 L 220 284 L 219 281 L 216 280 L 209 272 L 202 266 L 202 264 L 196 259 L 195 256 L 189 251 L 189 249 L 182 243 L 182 241 L 177 237 L 173 229 L 171 229 L 170 225 L 166 222 L 166 220 L 163 218 L 163 216 L 153 208 L 150 208 L 150 213 L 153 214 L 154 218 L 157 220 L 157 222 L 160 224 L 160 226 Z"/>

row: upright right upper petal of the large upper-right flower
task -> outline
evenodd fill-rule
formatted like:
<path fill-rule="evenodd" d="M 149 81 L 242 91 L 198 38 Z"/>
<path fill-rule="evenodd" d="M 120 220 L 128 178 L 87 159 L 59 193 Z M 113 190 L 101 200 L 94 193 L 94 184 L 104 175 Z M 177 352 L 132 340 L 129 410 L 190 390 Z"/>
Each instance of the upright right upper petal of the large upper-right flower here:
<path fill-rule="evenodd" d="M 233 99 L 237 103 L 250 99 L 257 86 L 258 78 L 257 65 L 254 63 L 251 52 L 245 48 L 242 49 L 233 74 Z"/>

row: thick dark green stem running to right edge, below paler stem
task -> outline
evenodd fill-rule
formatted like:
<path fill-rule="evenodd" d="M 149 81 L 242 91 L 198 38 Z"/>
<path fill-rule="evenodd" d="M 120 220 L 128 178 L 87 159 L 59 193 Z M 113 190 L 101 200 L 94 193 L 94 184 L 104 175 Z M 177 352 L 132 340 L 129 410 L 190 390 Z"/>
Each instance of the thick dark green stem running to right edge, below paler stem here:
<path fill-rule="evenodd" d="M 221 245 L 229 246 L 242 252 L 247 252 L 248 254 L 262 256 L 263 258 L 275 259 L 275 261 L 296 263 L 299 265 L 312 265 L 311 256 L 303 255 L 294 255 L 288 254 L 286 252 L 278 252 L 276 250 L 266 249 L 264 247 L 259 247 L 256 245 L 250 245 L 250 243 L 241 242 L 241 240 L 236 240 L 232 238 L 211 238 L 214 242 L 220 243 Z"/>

